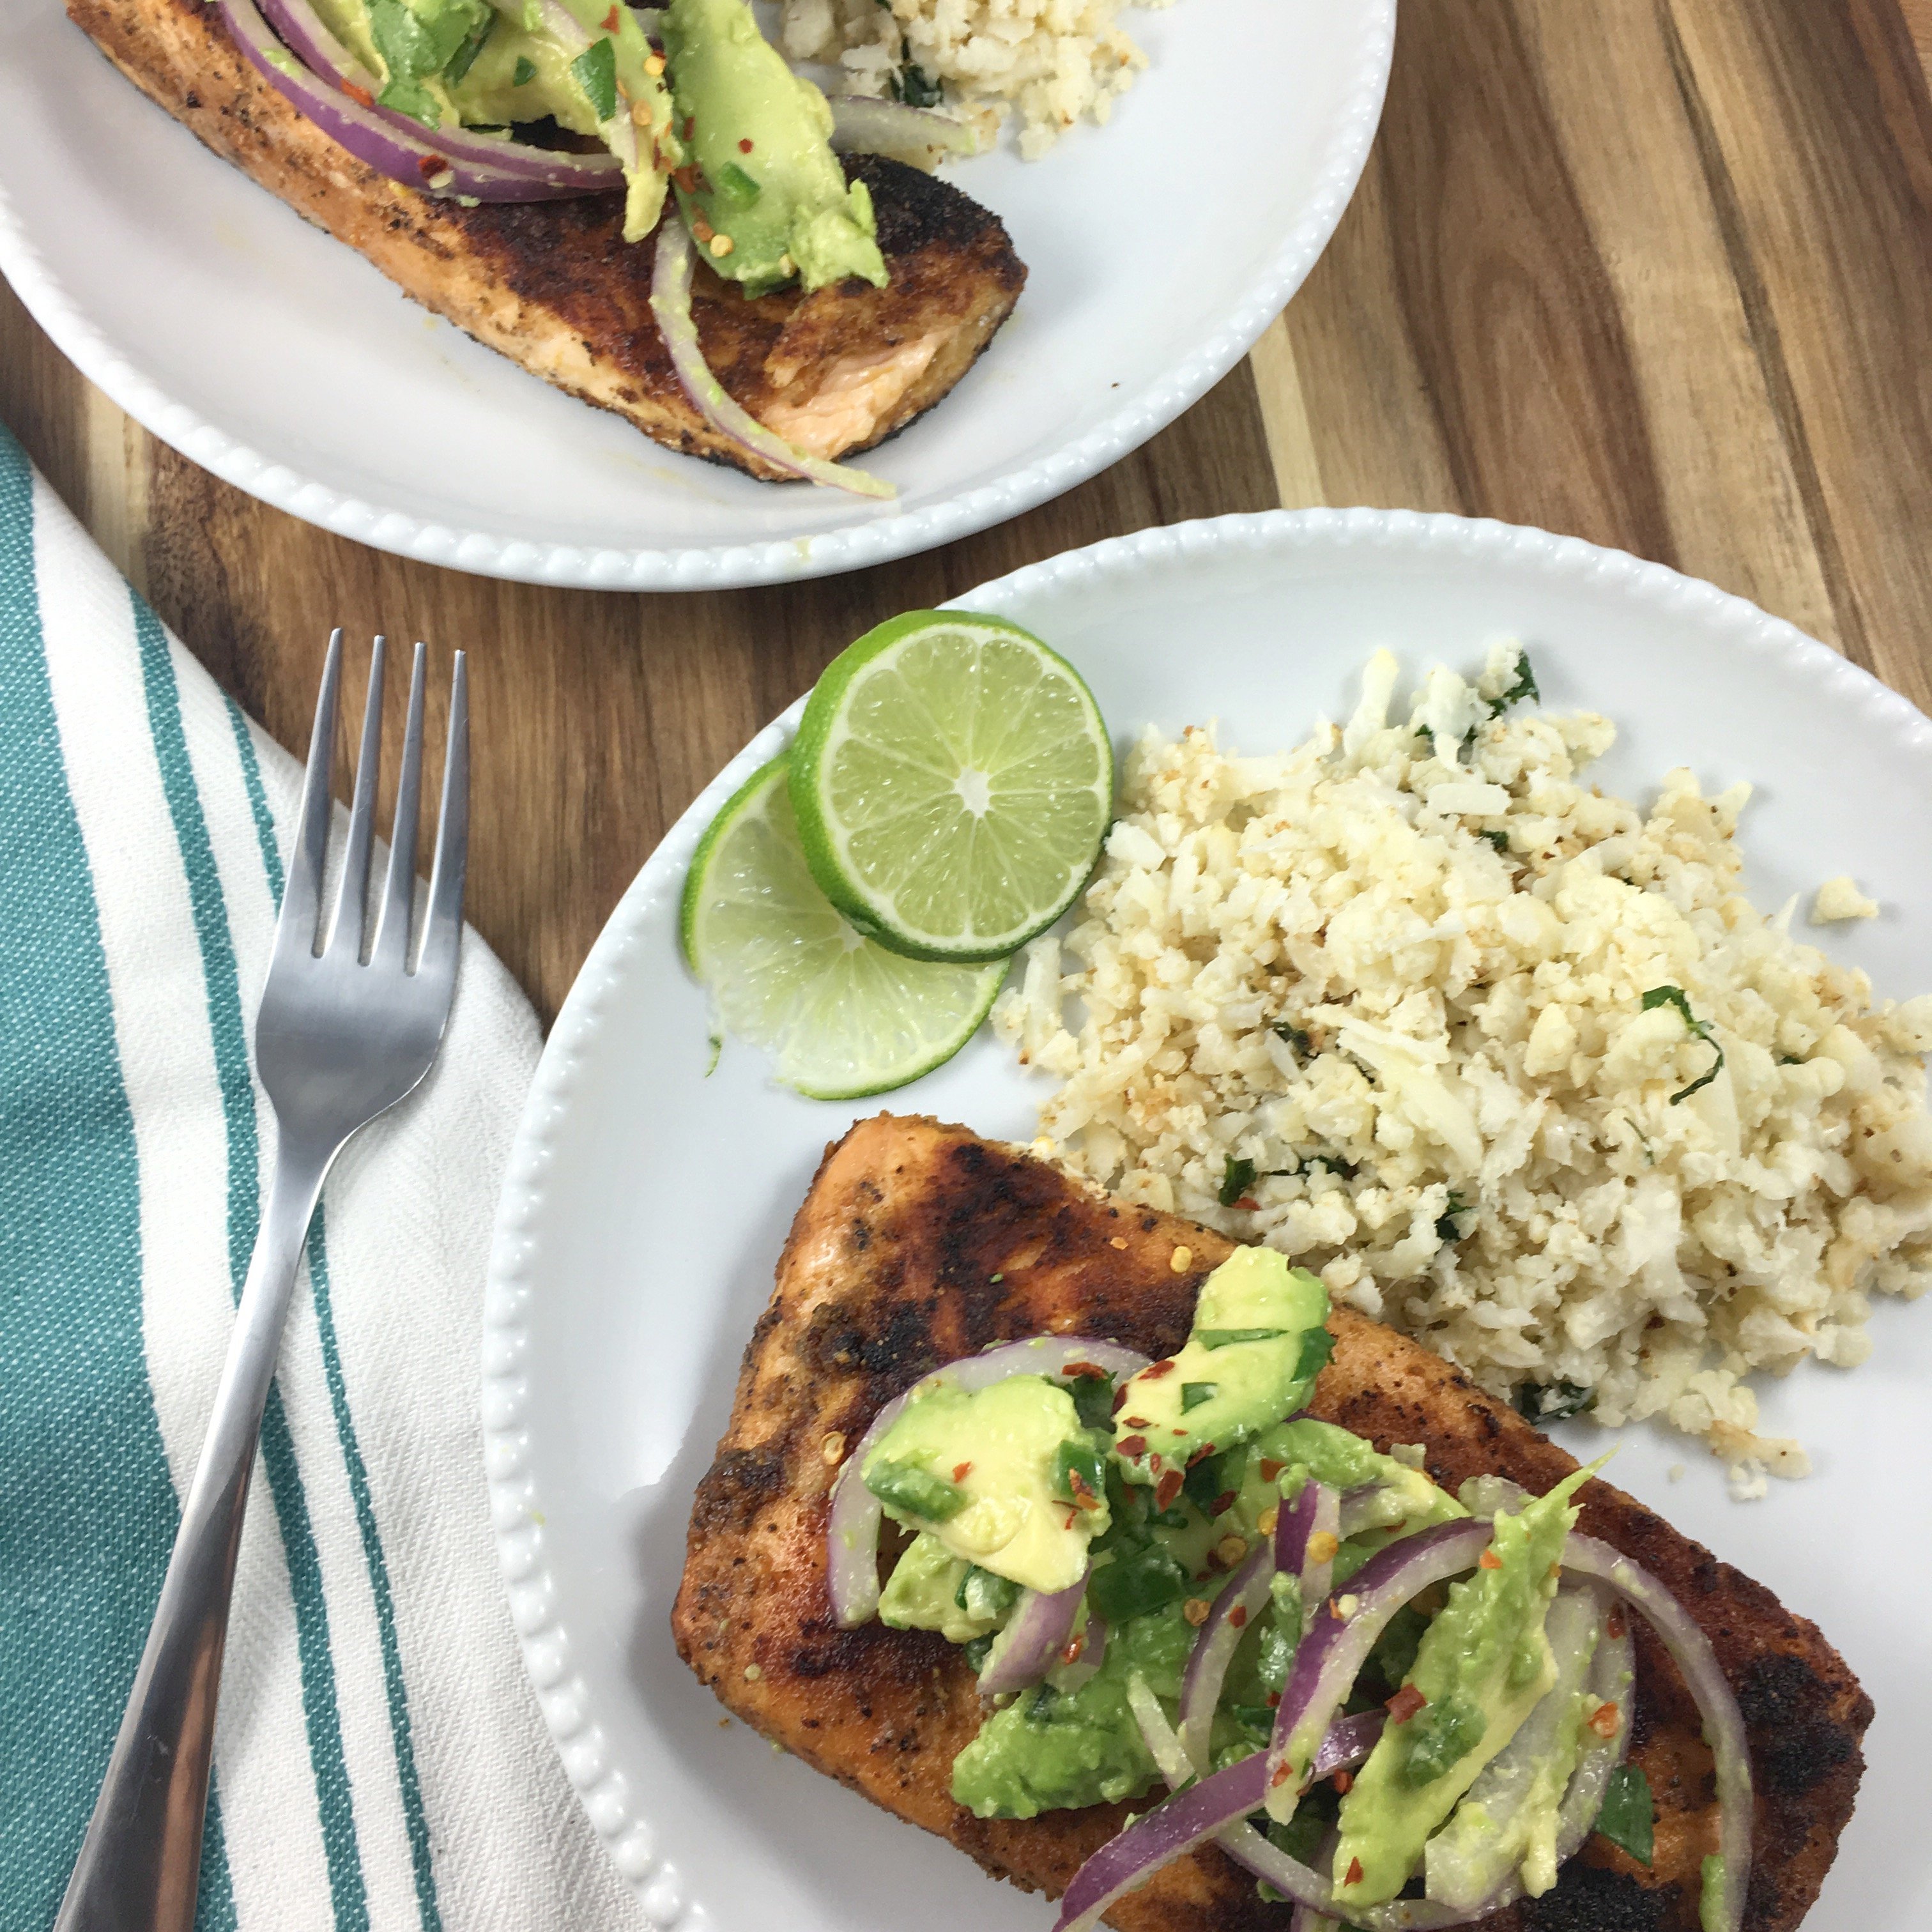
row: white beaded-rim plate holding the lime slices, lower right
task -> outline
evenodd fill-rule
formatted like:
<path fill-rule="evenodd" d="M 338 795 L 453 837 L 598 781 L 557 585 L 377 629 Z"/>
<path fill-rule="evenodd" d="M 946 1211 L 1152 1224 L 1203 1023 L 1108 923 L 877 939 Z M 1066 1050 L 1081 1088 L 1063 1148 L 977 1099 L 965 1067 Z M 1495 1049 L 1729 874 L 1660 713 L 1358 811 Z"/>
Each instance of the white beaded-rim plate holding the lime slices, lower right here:
<path fill-rule="evenodd" d="M 1604 781 L 1648 796 L 1679 763 L 1760 786 L 1748 885 L 1777 904 L 1839 871 L 1884 916 L 1826 943 L 1886 993 L 1932 980 L 1932 724 L 1789 624 L 1656 564 L 1540 531 L 1347 510 L 1155 529 L 1022 570 L 962 603 L 1024 620 L 1092 680 L 1117 742 L 1219 717 L 1273 750 L 1352 707 L 1362 661 L 1482 663 L 1522 638 L 1544 699 L 1623 728 Z M 887 612 L 877 612 L 885 616 Z M 1177 641 L 1186 639 L 1179 649 Z M 794 707 L 665 838 L 564 1003 L 512 1159 L 493 1258 L 485 1424 L 510 1604 L 593 1824 L 668 1922 L 885 1932 L 931 1917 L 1045 1932 L 1039 1899 L 775 1756 L 678 1662 L 667 1617 L 692 1490 L 730 1406 L 827 1140 L 879 1101 L 819 1105 L 726 1043 L 705 1078 L 705 1005 L 676 956 L 684 866 L 711 811 Z M 1806 937 L 1814 937 L 1806 933 Z M 1028 1138 L 1039 1088 L 989 1036 L 883 1105 Z M 1922 1932 L 1932 1646 L 1924 1401 L 1932 1308 L 1882 1306 L 1855 1374 L 1764 1393 L 1816 1476 L 1737 1505 L 1704 1451 L 1631 1430 L 1615 1480 L 1814 1617 L 1878 1719 L 1864 1797 L 1808 1932 Z M 1671 1484 L 1673 1463 L 1690 1464 Z"/>

